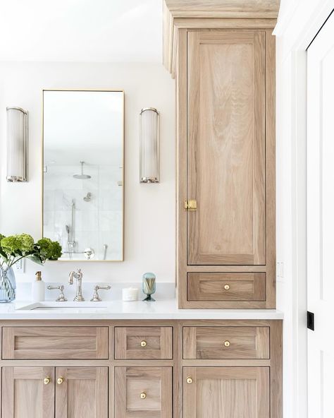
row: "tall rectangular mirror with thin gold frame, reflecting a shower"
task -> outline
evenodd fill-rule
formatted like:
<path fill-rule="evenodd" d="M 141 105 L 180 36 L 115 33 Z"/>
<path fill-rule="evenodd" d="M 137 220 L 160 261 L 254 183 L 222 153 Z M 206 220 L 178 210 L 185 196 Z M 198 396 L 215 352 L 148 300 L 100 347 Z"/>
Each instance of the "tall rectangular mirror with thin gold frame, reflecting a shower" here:
<path fill-rule="evenodd" d="M 123 261 L 124 92 L 43 90 L 43 144 L 43 236 L 63 261 Z"/>

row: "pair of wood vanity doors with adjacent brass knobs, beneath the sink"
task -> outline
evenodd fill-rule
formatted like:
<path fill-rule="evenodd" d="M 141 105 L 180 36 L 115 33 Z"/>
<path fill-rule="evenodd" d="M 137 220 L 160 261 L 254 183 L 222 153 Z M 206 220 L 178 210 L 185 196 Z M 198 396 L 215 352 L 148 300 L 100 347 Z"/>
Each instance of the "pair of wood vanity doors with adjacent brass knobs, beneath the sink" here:
<path fill-rule="evenodd" d="M 108 418 L 107 367 L 4 367 L 2 417 Z"/>

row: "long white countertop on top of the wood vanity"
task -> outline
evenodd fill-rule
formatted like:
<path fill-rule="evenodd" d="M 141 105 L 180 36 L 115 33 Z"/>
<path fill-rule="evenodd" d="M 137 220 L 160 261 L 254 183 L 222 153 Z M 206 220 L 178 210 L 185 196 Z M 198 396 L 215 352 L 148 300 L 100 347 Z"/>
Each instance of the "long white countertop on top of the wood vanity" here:
<path fill-rule="evenodd" d="M 175 299 L 0 304 L 0 320 L 11 319 L 283 319 L 283 312 L 276 309 L 178 309 Z"/>

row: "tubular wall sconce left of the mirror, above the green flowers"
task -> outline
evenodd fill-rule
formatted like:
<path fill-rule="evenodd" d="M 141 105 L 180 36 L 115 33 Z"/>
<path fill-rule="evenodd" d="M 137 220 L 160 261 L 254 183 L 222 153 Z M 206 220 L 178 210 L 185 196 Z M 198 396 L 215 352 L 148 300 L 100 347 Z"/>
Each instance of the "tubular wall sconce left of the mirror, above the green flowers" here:
<path fill-rule="evenodd" d="M 7 107 L 7 181 L 27 181 L 27 111 Z"/>

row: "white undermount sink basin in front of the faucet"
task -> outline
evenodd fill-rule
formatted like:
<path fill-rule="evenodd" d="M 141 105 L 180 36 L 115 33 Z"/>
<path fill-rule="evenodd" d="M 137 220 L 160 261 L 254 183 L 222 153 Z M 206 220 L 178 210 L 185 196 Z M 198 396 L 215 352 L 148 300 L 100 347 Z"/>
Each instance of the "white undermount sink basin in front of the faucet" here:
<path fill-rule="evenodd" d="M 107 309 L 108 306 L 106 304 L 102 304 L 101 302 L 75 302 L 75 301 L 66 301 L 66 302 L 34 302 L 31 304 L 27 304 L 25 306 L 21 306 L 17 308 L 17 311 L 81 311 L 84 310 L 85 312 L 94 312 L 97 309 Z"/>

